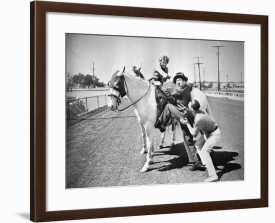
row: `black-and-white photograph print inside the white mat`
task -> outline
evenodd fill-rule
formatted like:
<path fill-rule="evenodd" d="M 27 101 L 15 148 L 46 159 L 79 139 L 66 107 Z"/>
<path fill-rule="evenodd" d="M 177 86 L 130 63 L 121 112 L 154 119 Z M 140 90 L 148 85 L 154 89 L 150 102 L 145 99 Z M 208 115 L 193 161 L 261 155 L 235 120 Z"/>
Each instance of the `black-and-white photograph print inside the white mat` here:
<path fill-rule="evenodd" d="M 244 42 L 66 33 L 66 188 L 244 180 Z"/>

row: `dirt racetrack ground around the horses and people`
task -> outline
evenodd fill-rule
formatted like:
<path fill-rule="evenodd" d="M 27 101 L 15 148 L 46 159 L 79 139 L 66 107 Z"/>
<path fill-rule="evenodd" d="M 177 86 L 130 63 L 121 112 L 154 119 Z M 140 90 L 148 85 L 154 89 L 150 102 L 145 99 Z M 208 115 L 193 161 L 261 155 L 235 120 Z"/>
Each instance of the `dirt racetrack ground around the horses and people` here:
<path fill-rule="evenodd" d="M 243 180 L 243 101 L 207 97 L 213 117 L 221 129 L 221 139 L 211 156 L 220 180 Z M 101 112 L 67 127 L 66 187 L 202 182 L 207 171 L 189 171 L 188 157 L 177 129 L 166 133 L 165 148 L 156 149 L 153 164 L 140 172 L 146 155 L 140 155 L 141 133 L 133 108 L 116 113 Z M 154 129 L 154 147 L 160 131 Z"/>

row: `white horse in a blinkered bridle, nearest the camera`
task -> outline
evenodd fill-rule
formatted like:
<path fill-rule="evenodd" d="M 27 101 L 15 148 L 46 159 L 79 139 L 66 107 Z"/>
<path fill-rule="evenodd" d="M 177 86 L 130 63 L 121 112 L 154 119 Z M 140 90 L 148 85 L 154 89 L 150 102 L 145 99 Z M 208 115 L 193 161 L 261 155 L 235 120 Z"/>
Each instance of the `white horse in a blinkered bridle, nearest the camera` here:
<path fill-rule="evenodd" d="M 125 67 L 122 72 L 117 70 L 111 76 L 109 82 L 108 107 L 112 110 L 116 110 L 121 101 L 120 97 L 125 95 L 129 99 L 131 105 L 134 106 L 142 133 L 142 148 L 140 153 L 143 154 L 147 150 L 146 162 L 140 170 L 141 172 L 145 172 L 148 170 L 149 164 L 152 163 L 154 154 L 153 128 L 156 120 L 155 86 L 124 70 Z M 203 93 L 196 89 L 191 93 L 191 98 L 198 98 L 198 101 L 203 107 L 209 107 L 206 97 L 205 101 L 203 97 L 201 97 L 201 94 Z M 200 97 L 202 99 L 200 99 Z M 183 139 L 184 146 L 188 146 L 184 135 Z"/>

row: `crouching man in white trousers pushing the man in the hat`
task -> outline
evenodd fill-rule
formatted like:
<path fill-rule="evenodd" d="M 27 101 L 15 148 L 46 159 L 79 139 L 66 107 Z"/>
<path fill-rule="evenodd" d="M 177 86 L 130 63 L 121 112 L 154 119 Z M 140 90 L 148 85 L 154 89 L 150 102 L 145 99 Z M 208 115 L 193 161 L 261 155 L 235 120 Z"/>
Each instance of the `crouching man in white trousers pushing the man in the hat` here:
<path fill-rule="evenodd" d="M 186 124 L 190 133 L 196 137 L 201 130 L 205 132 L 195 142 L 194 146 L 201 158 L 202 163 L 206 166 L 209 177 L 204 182 L 217 181 L 218 176 L 216 174 L 215 167 L 210 157 L 209 151 L 216 144 L 220 138 L 220 130 L 216 122 L 203 110 L 199 109 L 200 104 L 197 100 L 193 99 L 190 103 L 190 111 L 194 115 L 194 124 L 190 125 L 189 121 L 184 118 L 180 118 L 182 124 Z M 194 163 L 195 165 L 196 163 Z"/>

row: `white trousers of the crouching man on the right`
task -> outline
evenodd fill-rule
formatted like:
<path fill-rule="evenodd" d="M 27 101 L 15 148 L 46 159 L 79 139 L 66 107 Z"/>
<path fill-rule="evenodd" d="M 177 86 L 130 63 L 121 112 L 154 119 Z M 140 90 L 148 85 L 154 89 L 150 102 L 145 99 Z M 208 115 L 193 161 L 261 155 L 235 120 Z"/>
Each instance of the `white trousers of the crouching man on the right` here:
<path fill-rule="evenodd" d="M 205 165 L 205 167 L 207 168 L 209 176 L 216 174 L 216 170 L 209 152 L 219 139 L 220 130 L 219 128 L 217 128 L 215 131 L 211 133 L 201 135 L 195 142 L 195 148 L 197 149 L 197 153 L 200 156 L 202 164 Z"/>

